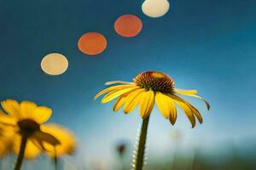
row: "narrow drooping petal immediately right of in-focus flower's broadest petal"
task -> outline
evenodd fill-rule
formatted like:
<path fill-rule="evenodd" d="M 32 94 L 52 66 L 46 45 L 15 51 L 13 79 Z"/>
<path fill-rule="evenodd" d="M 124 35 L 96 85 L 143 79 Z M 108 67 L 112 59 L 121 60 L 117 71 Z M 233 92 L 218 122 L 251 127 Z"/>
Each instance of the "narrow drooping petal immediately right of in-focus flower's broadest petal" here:
<path fill-rule="evenodd" d="M 191 122 L 192 127 L 195 127 L 195 116 L 193 114 L 193 111 L 191 110 L 191 108 L 189 107 L 189 105 L 187 105 L 185 102 L 183 102 L 183 100 L 181 100 L 181 98 L 179 98 L 176 95 L 172 95 L 169 94 L 169 96 L 174 100 L 174 102 L 183 109 L 183 111 L 185 112 L 185 114 L 188 116 L 189 121 Z"/>

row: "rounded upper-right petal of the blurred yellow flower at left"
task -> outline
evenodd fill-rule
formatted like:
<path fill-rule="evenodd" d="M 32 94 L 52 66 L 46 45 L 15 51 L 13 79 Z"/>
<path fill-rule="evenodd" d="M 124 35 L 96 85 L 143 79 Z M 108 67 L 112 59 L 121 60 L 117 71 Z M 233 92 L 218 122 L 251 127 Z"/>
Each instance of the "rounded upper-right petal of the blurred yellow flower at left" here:
<path fill-rule="evenodd" d="M 39 124 L 47 122 L 51 116 L 52 111 L 48 107 L 38 106 L 32 112 L 31 118 Z"/>

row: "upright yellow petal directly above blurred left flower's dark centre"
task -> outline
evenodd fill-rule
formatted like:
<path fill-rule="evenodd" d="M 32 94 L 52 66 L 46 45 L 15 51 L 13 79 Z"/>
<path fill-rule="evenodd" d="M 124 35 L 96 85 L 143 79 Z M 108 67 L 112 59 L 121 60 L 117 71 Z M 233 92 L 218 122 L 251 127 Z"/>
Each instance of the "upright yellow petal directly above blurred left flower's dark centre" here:
<path fill-rule="evenodd" d="M 31 101 L 21 101 L 20 103 L 20 119 L 32 118 L 33 111 L 38 105 Z"/>

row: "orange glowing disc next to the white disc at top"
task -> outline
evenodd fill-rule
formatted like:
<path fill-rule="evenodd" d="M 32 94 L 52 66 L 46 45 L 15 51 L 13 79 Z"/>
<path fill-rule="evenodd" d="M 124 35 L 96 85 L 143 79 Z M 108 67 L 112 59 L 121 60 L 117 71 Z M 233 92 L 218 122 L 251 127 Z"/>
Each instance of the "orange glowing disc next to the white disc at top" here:
<path fill-rule="evenodd" d="M 142 20 L 134 14 L 124 14 L 114 22 L 114 30 L 122 37 L 135 37 L 142 29 Z"/>

